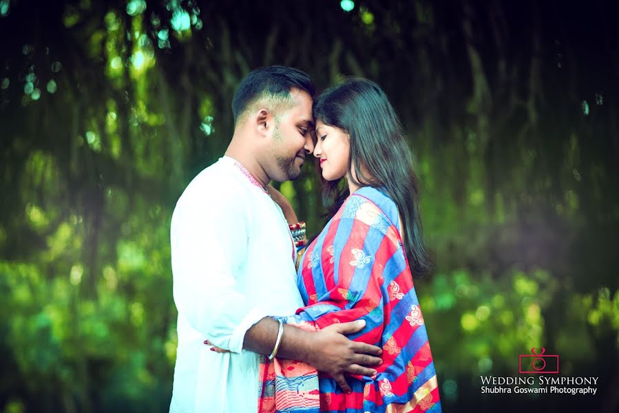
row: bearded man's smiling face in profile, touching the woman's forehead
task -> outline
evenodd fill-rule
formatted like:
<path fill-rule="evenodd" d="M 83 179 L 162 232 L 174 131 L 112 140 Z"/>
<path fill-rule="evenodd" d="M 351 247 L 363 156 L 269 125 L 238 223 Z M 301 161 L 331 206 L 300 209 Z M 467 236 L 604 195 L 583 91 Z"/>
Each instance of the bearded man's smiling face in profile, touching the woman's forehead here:
<path fill-rule="evenodd" d="M 278 182 L 299 178 L 305 156 L 314 150 L 312 98 L 297 88 L 290 93 L 296 104 L 279 117 L 269 148 L 273 162 L 267 173 Z"/>

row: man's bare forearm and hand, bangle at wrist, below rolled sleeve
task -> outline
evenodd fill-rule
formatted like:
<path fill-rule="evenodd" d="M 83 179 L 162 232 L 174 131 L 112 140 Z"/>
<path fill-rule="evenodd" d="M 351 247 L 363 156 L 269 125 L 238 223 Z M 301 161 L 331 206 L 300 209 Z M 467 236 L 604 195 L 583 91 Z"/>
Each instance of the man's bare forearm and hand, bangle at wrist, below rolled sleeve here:
<path fill-rule="evenodd" d="M 277 357 L 306 361 L 317 370 L 331 374 L 339 387 L 350 392 L 344 373 L 373 376 L 376 370 L 364 366 L 379 366 L 381 348 L 352 341 L 344 334 L 364 328 L 365 321 L 333 324 L 317 332 L 308 332 L 284 324 L 284 335 Z M 243 348 L 260 354 L 271 354 L 279 323 L 264 317 L 245 333 Z"/>

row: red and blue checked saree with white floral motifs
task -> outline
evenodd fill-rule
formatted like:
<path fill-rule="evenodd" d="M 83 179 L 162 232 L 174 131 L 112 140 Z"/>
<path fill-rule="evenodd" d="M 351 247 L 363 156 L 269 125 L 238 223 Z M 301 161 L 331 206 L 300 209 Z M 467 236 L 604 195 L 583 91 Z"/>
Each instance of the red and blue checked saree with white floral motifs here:
<path fill-rule="evenodd" d="M 260 413 L 441 412 L 428 334 L 399 234 L 395 202 L 372 187 L 348 198 L 306 249 L 297 284 L 306 307 L 284 317 L 319 330 L 364 319 L 350 339 L 383 348 L 375 377 L 351 376 L 352 394 L 300 361 L 263 358 Z"/>

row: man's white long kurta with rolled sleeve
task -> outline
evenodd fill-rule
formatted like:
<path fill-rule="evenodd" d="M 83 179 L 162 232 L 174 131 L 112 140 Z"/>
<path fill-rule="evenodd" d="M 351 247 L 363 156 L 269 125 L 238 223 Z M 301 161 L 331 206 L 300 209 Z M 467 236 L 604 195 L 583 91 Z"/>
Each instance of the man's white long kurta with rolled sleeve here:
<path fill-rule="evenodd" d="M 256 412 L 258 354 L 242 350 L 245 332 L 303 306 L 282 211 L 234 162 L 200 172 L 172 215 L 174 413 Z M 232 352 L 211 352 L 205 339 Z"/>

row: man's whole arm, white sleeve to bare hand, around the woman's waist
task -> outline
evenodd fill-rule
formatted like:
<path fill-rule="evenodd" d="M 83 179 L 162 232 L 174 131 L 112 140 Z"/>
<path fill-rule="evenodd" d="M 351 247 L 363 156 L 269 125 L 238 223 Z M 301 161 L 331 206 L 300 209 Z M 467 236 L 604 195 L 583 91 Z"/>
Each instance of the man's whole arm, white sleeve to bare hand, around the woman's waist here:
<path fill-rule="evenodd" d="M 209 337 L 213 345 L 233 352 L 244 348 L 271 354 L 279 323 L 266 317 L 268 313 L 263 308 L 249 305 L 250 300 L 236 284 L 232 273 L 234 261 L 246 256 L 242 242 L 246 235 L 239 233 L 242 226 L 231 231 L 232 218 L 226 217 L 238 220 L 243 211 L 237 211 L 240 202 L 224 202 L 224 195 L 222 191 L 216 205 L 200 199 L 185 200 L 181 209 L 175 211 L 171 229 L 174 301 L 179 313 L 194 329 Z M 355 343 L 343 335 L 358 330 L 361 327 L 346 324 L 319 332 L 284 326 L 277 354 L 312 364 L 348 390 L 344 372 L 370 374 L 373 370 L 359 370 L 359 364 L 375 366 L 380 361 L 373 357 L 379 354 L 379 348 Z M 366 355 L 359 354 L 362 352 Z"/>

